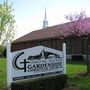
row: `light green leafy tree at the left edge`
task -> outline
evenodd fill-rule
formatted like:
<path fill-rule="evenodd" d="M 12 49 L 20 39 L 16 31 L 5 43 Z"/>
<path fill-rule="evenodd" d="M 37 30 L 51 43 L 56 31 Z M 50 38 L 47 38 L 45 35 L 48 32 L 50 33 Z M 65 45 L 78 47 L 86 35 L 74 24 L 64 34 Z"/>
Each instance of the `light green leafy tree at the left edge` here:
<path fill-rule="evenodd" d="M 8 1 L 0 4 L 0 49 L 5 45 L 6 40 L 14 38 L 14 15 L 12 6 Z"/>

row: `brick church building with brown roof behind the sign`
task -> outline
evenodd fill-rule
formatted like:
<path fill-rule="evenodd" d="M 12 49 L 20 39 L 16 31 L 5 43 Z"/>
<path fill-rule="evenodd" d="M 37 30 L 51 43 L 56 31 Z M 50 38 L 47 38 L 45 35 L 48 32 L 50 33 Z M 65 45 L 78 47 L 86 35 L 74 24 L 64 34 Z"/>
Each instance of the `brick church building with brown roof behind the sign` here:
<path fill-rule="evenodd" d="M 88 18 L 90 21 L 90 18 Z M 67 31 L 65 26 L 70 26 L 72 22 L 45 27 L 40 30 L 33 31 L 16 39 L 12 43 L 12 51 L 22 50 L 34 46 L 46 46 L 57 50 L 62 49 L 62 44 L 66 43 L 67 58 L 72 55 L 86 55 L 87 41 L 80 36 L 72 36 Z M 66 36 L 65 36 L 66 35 Z"/>

